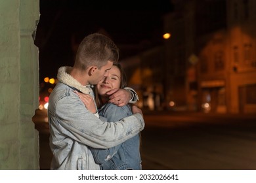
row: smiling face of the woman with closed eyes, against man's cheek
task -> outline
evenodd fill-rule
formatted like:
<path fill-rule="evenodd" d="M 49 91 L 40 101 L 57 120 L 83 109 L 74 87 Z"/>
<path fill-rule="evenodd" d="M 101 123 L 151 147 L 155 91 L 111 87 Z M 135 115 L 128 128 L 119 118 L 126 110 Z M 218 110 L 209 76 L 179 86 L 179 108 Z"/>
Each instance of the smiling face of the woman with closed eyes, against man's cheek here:
<path fill-rule="evenodd" d="M 100 80 L 97 84 L 98 94 L 101 96 L 107 96 L 106 92 L 112 89 L 120 88 L 121 84 L 121 73 L 119 69 L 113 65 L 108 71 L 108 76 Z"/>

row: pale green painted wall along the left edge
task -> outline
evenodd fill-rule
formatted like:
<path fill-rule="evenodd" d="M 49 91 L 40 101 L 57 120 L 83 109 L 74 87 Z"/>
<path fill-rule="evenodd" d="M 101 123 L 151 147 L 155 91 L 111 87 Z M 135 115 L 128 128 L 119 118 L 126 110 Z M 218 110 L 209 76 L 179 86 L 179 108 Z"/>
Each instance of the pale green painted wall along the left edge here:
<path fill-rule="evenodd" d="M 39 169 L 39 0 L 0 0 L 0 169 Z"/>

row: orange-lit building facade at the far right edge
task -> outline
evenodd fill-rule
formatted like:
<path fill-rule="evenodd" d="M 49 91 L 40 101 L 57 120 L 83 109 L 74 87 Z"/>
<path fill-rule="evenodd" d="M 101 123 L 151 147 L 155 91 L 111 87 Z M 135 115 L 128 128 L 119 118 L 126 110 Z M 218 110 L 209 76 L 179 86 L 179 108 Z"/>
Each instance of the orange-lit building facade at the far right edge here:
<path fill-rule="evenodd" d="M 228 108 L 256 113 L 256 1 L 227 2 Z"/>

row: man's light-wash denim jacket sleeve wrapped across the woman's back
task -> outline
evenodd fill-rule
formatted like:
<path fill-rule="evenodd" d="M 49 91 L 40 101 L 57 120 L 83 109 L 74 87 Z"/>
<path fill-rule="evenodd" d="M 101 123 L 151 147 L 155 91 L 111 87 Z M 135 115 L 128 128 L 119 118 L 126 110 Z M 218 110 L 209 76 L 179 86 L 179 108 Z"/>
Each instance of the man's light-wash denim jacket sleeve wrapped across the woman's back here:
<path fill-rule="evenodd" d="M 117 146 L 144 129 L 144 120 L 139 113 L 116 122 L 102 122 L 85 108 L 74 92 L 58 99 L 51 112 L 52 129 L 93 148 Z"/>

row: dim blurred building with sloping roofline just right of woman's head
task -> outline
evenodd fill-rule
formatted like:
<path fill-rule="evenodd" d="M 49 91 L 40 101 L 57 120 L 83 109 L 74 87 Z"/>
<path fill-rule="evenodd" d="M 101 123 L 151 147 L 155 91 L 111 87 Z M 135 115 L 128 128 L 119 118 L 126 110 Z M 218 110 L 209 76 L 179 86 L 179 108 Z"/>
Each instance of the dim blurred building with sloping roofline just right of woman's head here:
<path fill-rule="evenodd" d="M 139 95 L 139 106 L 148 110 L 162 110 L 165 92 L 165 47 L 155 46 L 137 56 L 123 59 L 120 63 L 129 78 L 129 86 Z"/>

